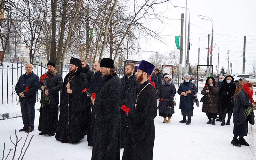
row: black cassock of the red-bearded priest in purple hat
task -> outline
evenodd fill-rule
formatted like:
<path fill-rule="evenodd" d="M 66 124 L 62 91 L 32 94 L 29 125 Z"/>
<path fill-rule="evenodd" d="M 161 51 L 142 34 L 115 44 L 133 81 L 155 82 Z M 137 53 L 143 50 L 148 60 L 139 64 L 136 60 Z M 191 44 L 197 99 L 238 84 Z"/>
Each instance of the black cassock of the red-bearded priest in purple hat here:
<path fill-rule="evenodd" d="M 139 92 L 149 80 L 140 84 Z M 154 118 L 157 115 L 156 90 L 149 84 L 138 97 L 137 106 L 126 117 L 127 142 L 124 146 L 122 160 L 153 159 L 155 140 Z"/>

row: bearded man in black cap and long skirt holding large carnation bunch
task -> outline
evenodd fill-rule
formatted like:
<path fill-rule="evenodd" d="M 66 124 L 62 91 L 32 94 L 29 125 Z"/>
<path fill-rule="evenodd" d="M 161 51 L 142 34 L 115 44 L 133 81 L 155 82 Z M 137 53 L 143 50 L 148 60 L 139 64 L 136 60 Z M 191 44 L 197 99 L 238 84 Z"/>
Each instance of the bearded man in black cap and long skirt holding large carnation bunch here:
<path fill-rule="evenodd" d="M 47 69 L 48 71 L 45 73 L 48 76 L 46 78 L 46 86 L 43 85 L 43 82 L 39 85 L 39 89 L 45 91 L 41 92 L 38 130 L 41 131 L 39 135 L 48 134 L 53 136 L 58 124 L 59 91 L 62 89 L 63 80 L 62 76 L 55 69 L 55 61 L 50 60 L 47 63 Z M 45 103 L 46 96 L 50 99 L 49 104 Z"/>

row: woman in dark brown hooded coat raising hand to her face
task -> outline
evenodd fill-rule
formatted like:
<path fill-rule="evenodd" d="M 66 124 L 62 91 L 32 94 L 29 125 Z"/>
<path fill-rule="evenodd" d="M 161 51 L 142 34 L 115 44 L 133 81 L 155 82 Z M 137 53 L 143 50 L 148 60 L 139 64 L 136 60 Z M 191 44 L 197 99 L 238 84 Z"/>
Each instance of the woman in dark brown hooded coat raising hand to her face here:
<path fill-rule="evenodd" d="M 209 121 L 206 124 L 215 125 L 215 119 L 218 113 L 218 87 L 213 77 L 208 77 L 205 86 L 201 92 L 207 96 L 207 100 L 203 103 L 202 112 L 206 113 Z"/>

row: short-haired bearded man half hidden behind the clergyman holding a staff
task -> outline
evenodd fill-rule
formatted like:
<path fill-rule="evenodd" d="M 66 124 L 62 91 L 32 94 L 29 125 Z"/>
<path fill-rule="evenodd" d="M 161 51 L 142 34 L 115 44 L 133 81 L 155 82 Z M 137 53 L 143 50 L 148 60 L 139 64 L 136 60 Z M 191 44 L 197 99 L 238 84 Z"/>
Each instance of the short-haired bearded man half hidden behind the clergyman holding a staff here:
<path fill-rule="evenodd" d="M 90 86 L 90 83 L 91 83 L 93 71 L 90 70 L 90 67 L 87 64 L 86 60 L 82 59 L 81 63 L 82 63 L 82 67 L 83 67 L 81 72 L 86 74 L 87 82 L 88 82 L 88 85 L 85 88 L 88 88 Z M 86 126 L 85 126 L 85 133 L 84 133 L 84 135 L 87 135 L 88 134 L 88 127 L 90 125 L 90 118 L 91 118 L 91 100 L 89 98 L 89 95 L 87 95 L 87 98 L 86 98 L 85 114 L 86 114 L 85 115 L 86 116 L 86 118 L 85 118 Z"/>

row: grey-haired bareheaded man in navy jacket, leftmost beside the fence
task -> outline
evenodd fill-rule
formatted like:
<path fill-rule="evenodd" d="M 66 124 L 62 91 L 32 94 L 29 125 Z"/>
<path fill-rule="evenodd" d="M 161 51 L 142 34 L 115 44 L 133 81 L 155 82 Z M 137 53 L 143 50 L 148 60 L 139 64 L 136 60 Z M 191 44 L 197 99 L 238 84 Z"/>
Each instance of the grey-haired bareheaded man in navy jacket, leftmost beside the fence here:
<path fill-rule="evenodd" d="M 39 77 L 33 73 L 33 66 L 27 63 L 25 66 L 26 73 L 21 75 L 19 81 L 15 86 L 15 91 L 19 95 L 20 108 L 23 121 L 23 128 L 19 131 L 32 132 L 34 131 L 34 120 L 35 120 L 35 103 L 36 103 L 36 92 L 39 86 Z M 24 92 L 25 89 L 28 91 Z"/>

